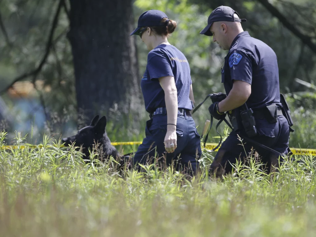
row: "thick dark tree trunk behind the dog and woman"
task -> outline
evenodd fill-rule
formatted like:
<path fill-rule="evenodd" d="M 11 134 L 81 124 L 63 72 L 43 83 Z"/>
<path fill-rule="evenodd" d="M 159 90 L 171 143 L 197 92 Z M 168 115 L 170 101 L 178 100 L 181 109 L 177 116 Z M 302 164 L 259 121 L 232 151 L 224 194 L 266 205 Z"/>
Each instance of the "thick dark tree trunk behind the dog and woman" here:
<path fill-rule="evenodd" d="M 76 97 L 85 121 L 117 103 L 138 116 L 140 77 L 131 0 L 70 0 Z"/>

